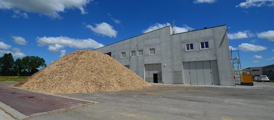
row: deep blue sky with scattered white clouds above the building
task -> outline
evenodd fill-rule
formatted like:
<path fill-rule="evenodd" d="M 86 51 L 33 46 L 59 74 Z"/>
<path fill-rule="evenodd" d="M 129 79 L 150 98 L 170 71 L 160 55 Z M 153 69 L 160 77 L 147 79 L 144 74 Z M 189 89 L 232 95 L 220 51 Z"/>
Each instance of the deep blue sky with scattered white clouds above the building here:
<path fill-rule="evenodd" d="M 0 0 L 0 55 L 43 57 L 108 45 L 175 22 L 177 31 L 227 25 L 242 68 L 274 64 L 274 0 Z"/>

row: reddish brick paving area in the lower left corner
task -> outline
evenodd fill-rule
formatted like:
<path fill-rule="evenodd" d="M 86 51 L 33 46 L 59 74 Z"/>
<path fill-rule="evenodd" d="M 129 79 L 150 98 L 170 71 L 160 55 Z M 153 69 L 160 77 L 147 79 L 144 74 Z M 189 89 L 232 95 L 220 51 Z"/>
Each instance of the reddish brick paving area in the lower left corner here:
<path fill-rule="evenodd" d="M 11 87 L 0 87 L 0 101 L 25 115 L 90 103 Z"/>

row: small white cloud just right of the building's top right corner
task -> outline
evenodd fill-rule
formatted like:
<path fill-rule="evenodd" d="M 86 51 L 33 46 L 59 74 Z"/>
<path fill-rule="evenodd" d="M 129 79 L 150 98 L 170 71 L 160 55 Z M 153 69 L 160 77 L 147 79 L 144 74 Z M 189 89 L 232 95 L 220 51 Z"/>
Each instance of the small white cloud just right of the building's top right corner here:
<path fill-rule="evenodd" d="M 249 37 L 253 37 L 254 34 L 250 33 L 249 31 L 238 31 L 236 33 L 228 33 L 227 37 L 228 39 L 244 39 L 244 38 L 249 38 Z"/>

